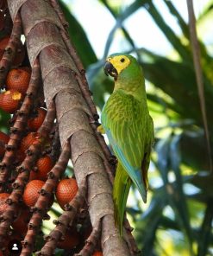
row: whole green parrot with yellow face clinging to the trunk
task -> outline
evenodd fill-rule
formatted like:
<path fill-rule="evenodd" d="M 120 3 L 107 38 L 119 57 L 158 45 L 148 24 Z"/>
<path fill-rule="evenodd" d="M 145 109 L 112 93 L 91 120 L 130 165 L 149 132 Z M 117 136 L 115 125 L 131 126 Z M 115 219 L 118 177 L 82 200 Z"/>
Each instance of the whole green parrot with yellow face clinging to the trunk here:
<path fill-rule="evenodd" d="M 135 58 L 129 54 L 112 54 L 103 69 L 115 80 L 114 91 L 103 106 L 101 122 L 118 160 L 113 200 L 116 225 L 122 235 L 122 222 L 132 182 L 143 202 L 147 202 L 153 119 L 147 108 L 141 66 Z"/>

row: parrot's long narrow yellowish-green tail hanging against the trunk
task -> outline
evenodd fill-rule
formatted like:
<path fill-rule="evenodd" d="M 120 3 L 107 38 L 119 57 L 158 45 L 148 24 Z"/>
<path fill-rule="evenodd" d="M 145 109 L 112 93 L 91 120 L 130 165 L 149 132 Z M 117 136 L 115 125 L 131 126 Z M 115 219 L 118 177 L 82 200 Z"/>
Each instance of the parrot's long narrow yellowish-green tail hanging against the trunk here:
<path fill-rule="evenodd" d="M 118 162 L 116 168 L 116 177 L 113 186 L 113 200 L 115 205 L 115 221 L 122 235 L 122 222 L 124 212 L 128 200 L 128 192 L 131 186 L 131 179 L 127 172 L 122 168 L 122 164 Z"/>

